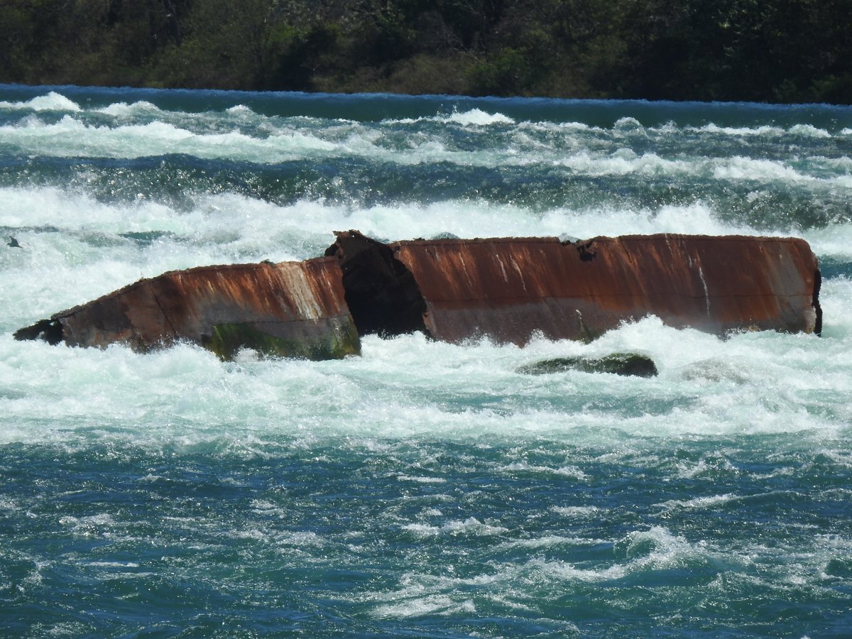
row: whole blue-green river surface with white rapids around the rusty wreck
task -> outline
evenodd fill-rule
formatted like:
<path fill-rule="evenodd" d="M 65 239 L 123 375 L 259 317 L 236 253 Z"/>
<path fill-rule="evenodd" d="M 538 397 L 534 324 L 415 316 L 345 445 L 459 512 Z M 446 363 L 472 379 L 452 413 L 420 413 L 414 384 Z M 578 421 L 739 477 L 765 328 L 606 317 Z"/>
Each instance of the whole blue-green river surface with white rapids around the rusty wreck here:
<path fill-rule="evenodd" d="M 12 337 L 350 228 L 800 237 L 823 334 Z M 3 636 L 852 631 L 852 107 L 0 86 L 0 234 Z M 659 376 L 519 371 L 622 351 Z"/>

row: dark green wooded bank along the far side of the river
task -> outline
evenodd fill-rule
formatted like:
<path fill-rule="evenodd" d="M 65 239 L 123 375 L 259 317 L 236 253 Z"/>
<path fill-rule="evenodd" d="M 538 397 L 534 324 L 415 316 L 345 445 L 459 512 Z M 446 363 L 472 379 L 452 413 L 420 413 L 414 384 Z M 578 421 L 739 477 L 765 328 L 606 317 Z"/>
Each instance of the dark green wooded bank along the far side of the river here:
<path fill-rule="evenodd" d="M 852 0 L 4 0 L 0 82 L 852 102 Z"/>

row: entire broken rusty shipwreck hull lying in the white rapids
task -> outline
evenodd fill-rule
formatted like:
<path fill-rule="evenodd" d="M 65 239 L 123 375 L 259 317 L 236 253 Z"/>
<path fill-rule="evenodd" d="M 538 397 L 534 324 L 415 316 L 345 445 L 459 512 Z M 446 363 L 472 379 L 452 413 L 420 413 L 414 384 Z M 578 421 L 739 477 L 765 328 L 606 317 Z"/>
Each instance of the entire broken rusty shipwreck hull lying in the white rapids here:
<path fill-rule="evenodd" d="M 142 279 L 15 333 L 137 350 L 198 343 L 325 360 L 360 336 L 423 331 L 460 343 L 588 341 L 625 321 L 729 331 L 821 330 L 819 266 L 802 239 L 659 234 L 434 239 L 337 233 L 305 262 L 191 268 Z"/>

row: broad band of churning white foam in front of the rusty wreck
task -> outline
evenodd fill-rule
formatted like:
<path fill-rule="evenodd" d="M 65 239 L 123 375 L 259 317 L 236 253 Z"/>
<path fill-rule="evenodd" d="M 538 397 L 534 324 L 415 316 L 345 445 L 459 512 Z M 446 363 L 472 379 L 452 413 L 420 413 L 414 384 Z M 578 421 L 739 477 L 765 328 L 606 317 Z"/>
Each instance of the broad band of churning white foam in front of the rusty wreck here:
<path fill-rule="evenodd" d="M 539 359 L 625 351 L 649 354 L 659 377 L 517 372 Z M 134 354 L 122 346 L 19 343 L 6 334 L 0 336 L 0 438 L 83 445 L 94 438 L 157 448 L 219 440 L 247 455 L 262 451 L 253 442 L 341 436 L 354 446 L 375 439 L 544 437 L 617 449 L 636 437 L 671 446 L 672 437 L 688 435 L 798 433 L 801 443 L 824 446 L 849 432 L 848 353 L 847 341 L 837 337 L 747 333 L 723 340 L 655 319 L 590 344 L 538 340 L 527 348 L 433 343 L 419 334 L 367 337 L 360 357 L 325 362 L 223 363 L 192 346 Z M 696 366 L 718 358 L 738 362 L 737 369 L 695 376 Z M 679 472 L 712 470 L 705 463 Z M 583 481 L 570 466 L 504 464 L 504 472 Z"/>

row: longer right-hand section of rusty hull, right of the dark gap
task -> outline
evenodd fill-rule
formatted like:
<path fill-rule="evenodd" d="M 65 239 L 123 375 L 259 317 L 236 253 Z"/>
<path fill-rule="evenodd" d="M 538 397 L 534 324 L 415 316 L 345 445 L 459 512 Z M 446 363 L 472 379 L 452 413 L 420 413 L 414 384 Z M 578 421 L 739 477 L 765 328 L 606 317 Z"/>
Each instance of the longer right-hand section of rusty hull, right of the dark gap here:
<path fill-rule="evenodd" d="M 590 340 L 656 315 L 719 335 L 819 332 L 820 274 L 802 239 L 659 234 L 398 242 L 433 337 Z"/>

